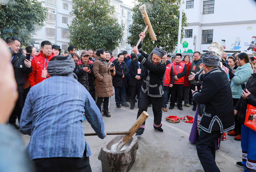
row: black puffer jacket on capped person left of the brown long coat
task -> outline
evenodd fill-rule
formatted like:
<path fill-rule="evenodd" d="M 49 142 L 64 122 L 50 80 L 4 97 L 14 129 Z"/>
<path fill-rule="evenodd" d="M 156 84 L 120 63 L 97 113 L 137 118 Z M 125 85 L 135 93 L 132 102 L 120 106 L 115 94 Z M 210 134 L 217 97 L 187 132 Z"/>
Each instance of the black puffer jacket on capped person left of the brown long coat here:
<path fill-rule="evenodd" d="M 95 85 L 94 85 L 94 75 L 93 75 L 93 64 L 89 64 L 91 73 L 87 73 L 83 70 L 84 65 L 76 65 L 74 73 L 76 73 L 78 77 L 78 82 L 80 82 L 84 87 L 89 91 L 92 98 L 95 100 Z"/>

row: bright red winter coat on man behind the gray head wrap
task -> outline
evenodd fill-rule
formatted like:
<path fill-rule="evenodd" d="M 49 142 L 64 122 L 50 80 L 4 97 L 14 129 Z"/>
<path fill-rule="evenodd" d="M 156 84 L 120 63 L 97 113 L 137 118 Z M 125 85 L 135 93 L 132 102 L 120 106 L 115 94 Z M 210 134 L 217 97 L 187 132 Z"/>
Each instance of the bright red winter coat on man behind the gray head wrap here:
<path fill-rule="evenodd" d="M 48 62 L 52 57 L 54 57 L 54 53 L 46 57 L 45 69 L 47 69 Z M 31 65 L 33 67 L 32 72 L 28 74 L 28 80 L 30 86 L 33 87 L 37 83 L 40 83 L 46 78 L 42 77 L 42 70 L 44 69 L 45 55 L 42 51 L 39 54 L 35 55 L 31 61 Z"/>

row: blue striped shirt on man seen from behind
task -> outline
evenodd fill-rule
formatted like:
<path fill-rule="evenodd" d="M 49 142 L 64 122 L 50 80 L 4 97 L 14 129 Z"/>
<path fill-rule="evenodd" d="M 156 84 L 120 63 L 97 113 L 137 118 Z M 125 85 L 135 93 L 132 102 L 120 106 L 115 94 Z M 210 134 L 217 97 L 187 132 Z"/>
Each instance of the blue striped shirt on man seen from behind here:
<path fill-rule="evenodd" d="M 83 113 L 100 138 L 105 137 L 100 110 L 76 79 L 53 76 L 31 87 L 20 118 L 21 130 L 31 135 L 31 159 L 91 155 L 84 139 Z"/>

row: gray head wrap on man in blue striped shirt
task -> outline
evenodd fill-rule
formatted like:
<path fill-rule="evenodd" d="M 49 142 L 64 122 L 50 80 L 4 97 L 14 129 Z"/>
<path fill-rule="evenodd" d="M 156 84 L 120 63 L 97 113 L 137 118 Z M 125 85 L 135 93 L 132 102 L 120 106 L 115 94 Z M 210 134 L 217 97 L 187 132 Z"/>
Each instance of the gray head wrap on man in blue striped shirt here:
<path fill-rule="evenodd" d="M 50 76 L 60 75 L 73 77 L 77 79 L 76 74 L 73 72 L 76 65 L 71 55 L 55 56 L 48 62 L 47 71 Z"/>

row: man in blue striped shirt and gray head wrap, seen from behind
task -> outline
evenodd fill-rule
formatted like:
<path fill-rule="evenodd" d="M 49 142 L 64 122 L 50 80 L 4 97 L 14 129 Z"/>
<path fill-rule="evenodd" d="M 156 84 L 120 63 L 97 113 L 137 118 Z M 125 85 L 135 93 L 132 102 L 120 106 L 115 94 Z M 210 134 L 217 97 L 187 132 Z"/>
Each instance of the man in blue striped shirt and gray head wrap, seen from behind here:
<path fill-rule="evenodd" d="M 106 136 L 100 110 L 74 68 L 70 55 L 52 57 L 51 77 L 31 87 L 22 109 L 20 129 L 31 135 L 27 151 L 38 172 L 91 172 L 83 113 L 97 135 Z"/>

